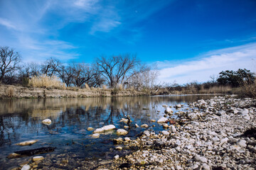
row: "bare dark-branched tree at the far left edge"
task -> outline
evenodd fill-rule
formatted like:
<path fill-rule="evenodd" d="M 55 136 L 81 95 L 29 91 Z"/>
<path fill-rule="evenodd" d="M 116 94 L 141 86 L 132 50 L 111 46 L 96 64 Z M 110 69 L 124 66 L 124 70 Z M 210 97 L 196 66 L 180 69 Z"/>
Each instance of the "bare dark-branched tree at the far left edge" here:
<path fill-rule="evenodd" d="M 18 52 L 14 52 L 9 47 L 0 48 L 0 82 L 4 80 L 6 74 L 16 72 L 19 62 L 21 62 L 21 55 Z"/>

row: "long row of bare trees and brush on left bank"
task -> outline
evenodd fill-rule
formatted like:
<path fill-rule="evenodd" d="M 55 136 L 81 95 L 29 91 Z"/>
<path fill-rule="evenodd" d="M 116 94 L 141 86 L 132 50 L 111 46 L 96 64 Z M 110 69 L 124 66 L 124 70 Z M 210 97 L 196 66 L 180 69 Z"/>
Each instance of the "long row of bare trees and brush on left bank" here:
<path fill-rule="evenodd" d="M 157 69 L 151 69 L 140 62 L 136 55 L 130 54 L 102 55 L 95 58 L 92 64 L 63 63 L 53 57 L 42 64 L 34 62 L 22 64 L 21 55 L 9 47 L 1 47 L 0 56 L 0 82 L 2 84 L 32 86 L 31 82 L 60 79 L 67 87 L 117 88 L 117 86 L 122 86 L 143 89 L 152 88 L 158 76 Z"/>

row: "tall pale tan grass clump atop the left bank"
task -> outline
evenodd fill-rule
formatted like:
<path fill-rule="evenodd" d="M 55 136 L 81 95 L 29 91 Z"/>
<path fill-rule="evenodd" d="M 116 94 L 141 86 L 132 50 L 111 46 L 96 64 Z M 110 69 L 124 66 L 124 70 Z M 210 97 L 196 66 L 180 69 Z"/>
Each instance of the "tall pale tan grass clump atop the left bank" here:
<path fill-rule="evenodd" d="M 56 89 L 65 89 L 65 84 L 63 84 L 58 77 L 48 77 L 45 74 L 38 76 L 38 77 L 32 77 L 29 80 L 29 86 L 32 87 L 53 87 Z"/>

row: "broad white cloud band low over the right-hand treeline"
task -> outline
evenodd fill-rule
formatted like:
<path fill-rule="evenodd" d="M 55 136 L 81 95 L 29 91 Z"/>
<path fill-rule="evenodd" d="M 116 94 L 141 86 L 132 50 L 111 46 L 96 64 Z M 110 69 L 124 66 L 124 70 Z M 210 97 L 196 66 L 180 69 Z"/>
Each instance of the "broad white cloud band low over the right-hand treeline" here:
<path fill-rule="evenodd" d="M 208 81 L 210 75 L 218 74 L 223 70 L 250 69 L 256 72 L 256 43 L 240 45 L 208 52 L 199 60 L 181 62 L 167 67 L 169 62 L 157 62 L 160 68 L 161 82 L 186 84 L 191 81 Z M 162 69 L 161 69 L 162 68 Z"/>

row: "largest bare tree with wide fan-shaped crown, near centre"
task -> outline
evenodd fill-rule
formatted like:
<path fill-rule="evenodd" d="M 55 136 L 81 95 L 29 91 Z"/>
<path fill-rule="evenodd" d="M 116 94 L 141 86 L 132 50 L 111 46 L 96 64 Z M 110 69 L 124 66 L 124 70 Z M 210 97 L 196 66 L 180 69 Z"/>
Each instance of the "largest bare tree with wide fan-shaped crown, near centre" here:
<path fill-rule="evenodd" d="M 137 73 L 139 60 L 137 60 L 136 55 L 129 54 L 102 56 L 96 59 L 96 65 L 107 83 L 113 88 L 117 84 L 124 84 L 132 75 Z"/>

